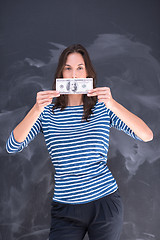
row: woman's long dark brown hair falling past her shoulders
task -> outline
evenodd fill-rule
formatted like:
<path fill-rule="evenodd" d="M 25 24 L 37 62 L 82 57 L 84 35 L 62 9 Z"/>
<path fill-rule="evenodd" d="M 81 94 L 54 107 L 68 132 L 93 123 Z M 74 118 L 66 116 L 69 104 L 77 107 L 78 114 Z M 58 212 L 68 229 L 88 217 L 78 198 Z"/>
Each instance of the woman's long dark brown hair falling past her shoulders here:
<path fill-rule="evenodd" d="M 68 55 L 71 53 L 74 53 L 74 52 L 80 53 L 82 55 L 84 62 L 85 62 L 87 77 L 93 78 L 93 88 L 95 88 L 96 72 L 92 66 L 88 52 L 81 44 L 73 44 L 73 45 L 67 47 L 66 49 L 64 49 L 64 51 L 60 55 L 57 70 L 55 72 L 54 83 L 53 83 L 53 87 L 52 87 L 53 90 L 56 89 L 56 78 L 63 78 L 62 72 L 63 72 L 63 68 L 66 64 Z M 83 100 L 83 117 L 82 117 L 82 119 L 85 119 L 86 121 L 88 121 L 90 115 L 93 113 L 92 109 L 96 104 L 97 97 L 88 97 L 86 94 L 83 94 L 82 100 Z M 56 98 L 55 103 L 53 105 L 53 108 L 52 108 L 53 113 L 54 113 L 54 109 L 56 109 L 58 107 L 60 107 L 61 110 L 64 110 L 67 107 L 67 104 L 68 104 L 68 96 L 65 94 L 60 95 L 60 97 Z"/>

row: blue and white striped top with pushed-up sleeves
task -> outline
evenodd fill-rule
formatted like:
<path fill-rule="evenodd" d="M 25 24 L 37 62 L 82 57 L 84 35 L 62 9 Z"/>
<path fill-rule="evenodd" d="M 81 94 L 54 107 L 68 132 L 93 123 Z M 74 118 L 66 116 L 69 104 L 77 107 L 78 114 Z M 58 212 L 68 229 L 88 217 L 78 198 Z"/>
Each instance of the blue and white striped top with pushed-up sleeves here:
<path fill-rule="evenodd" d="M 52 107 L 45 107 L 23 142 L 12 132 L 7 152 L 22 151 L 42 132 L 55 168 L 54 201 L 87 203 L 115 192 L 118 186 L 107 166 L 110 128 L 141 139 L 104 103 L 96 103 L 89 122 L 82 120 L 83 105 L 58 108 L 54 114 Z"/>

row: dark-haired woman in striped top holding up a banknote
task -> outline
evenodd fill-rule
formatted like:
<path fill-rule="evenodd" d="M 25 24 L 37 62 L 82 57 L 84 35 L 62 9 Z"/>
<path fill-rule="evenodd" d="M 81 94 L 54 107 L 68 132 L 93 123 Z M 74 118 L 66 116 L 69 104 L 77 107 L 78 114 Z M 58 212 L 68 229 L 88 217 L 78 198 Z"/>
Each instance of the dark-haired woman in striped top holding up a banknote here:
<path fill-rule="evenodd" d="M 113 126 L 131 137 L 151 141 L 153 133 L 116 102 L 107 87 L 95 87 L 96 74 L 86 49 L 66 48 L 56 78 L 94 79 L 88 94 L 37 93 L 36 103 L 11 133 L 6 149 L 21 151 L 41 131 L 55 167 L 50 240 L 118 240 L 123 207 L 118 186 L 107 167 L 109 131 Z M 52 104 L 52 99 L 55 103 Z"/>

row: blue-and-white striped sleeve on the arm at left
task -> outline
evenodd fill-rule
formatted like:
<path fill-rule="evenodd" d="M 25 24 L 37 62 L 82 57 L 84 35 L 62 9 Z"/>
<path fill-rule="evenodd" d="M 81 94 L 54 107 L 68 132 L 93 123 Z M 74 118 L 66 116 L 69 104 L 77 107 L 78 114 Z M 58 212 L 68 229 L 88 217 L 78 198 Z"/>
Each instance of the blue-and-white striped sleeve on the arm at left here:
<path fill-rule="evenodd" d="M 8 153 L 16 153 L 21 152 L 23 148 L 27 147 L 28 144 L 37 136 L 39 132 L 42 132 L 42 113 L 37 119 L 37 121 L 32 126 L 30 132 L 28 133 L 28 136 L 23 142 L 17 142 L 14 138 L 13 131 L 11 132 L 7 143 L 6 143 L 6 150 Z"/>

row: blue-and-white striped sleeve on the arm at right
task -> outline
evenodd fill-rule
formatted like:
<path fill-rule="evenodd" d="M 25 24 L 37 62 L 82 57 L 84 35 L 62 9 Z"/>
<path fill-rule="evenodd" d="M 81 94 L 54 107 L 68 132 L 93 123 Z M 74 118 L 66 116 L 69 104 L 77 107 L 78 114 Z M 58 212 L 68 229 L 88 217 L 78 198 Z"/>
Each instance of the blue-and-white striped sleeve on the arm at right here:
<path fill-rule="evenodd" d="M 139 138 L 117 115 L 115 115 L 110 109 L 108 111 L 110 115 L 110 127 L 114 127 L 120 131 L 125 132 L 127 135 L 131 136 L 134 139 L 143 141 Z"/>

